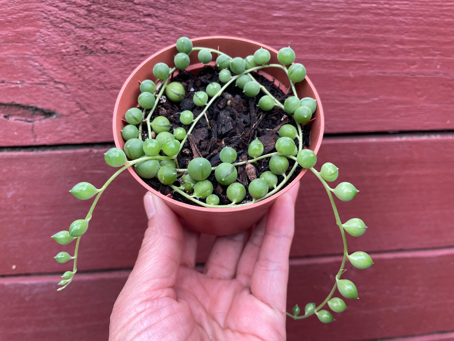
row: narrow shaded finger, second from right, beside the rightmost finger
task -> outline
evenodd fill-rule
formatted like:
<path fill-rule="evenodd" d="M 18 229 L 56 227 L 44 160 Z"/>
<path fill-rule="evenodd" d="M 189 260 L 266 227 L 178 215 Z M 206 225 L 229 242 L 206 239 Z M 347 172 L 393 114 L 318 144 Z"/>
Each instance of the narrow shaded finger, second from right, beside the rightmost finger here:
<path fill-rule="evenodd" d="M 258 253 L 262 247 L 265 234 L 266 216 L 252 230 L 252 234 L 244 247 L 237 266 L 237 281 L 243 286 L 251 286 L 251 276 L 257 262 Z"/>

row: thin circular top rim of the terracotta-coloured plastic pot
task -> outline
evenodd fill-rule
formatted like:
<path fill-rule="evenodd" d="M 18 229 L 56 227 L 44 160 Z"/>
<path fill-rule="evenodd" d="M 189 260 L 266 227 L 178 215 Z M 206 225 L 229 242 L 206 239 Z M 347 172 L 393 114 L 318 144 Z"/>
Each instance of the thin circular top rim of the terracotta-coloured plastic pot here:
<path fill-rule="evenodd" d="M 238 40 L 238 41 L 244 41 L 244 42 L 248 42 L 248 43 L 251 43 L 251 44 L 254 44 L 254 45 L 260 45 L 262 46 L 263 48 L 269 50 L 269 51 L 272 51 L 274 53 L 277 54 L 277 50 L 268 46 L 268 45 L 265 45 L 265 44 L 262 44 L 262 43 L 259 43 L 257 41 L 254 41 L 254 40 L 248 40 L 248 39 L 243 39 L 243 38 L 238 38 L 238 37 L 230 37 L 230 36 L 222 36 L 222 35 L 218 35 L 218 36 L 205 36 L 205 37 L 199 37 L 199 38 L 195 38 L 195 39 L 191 39 L 192 42 L 195 42 L 195 41 L 201 41 L 201 40 L 207 40 L 207 39 L 226 39 L 226 40 Z M 154 53 L 153 55 L 149 56 L 146 60 L 144 60 L 142 63 L 140 63 L 140 65 L 138 65 L 134 71 L 128 76 L 128 79 L 123 83 L 123 86 L 118 94 L 118 97 L 117 97 L 117 100 L 115 102 L 115 107 L 114 107 L 114 116 L 113 116 L 113 131 L 114 131 L 114 142 L 115 142 L 115 146 L 117 148 L 119 148 L 120 144 L 119 144 L 119 140 L 118 140 L 118 136 L 116 134 L 116 131 L 117 131 L 117 121 L 116 121 L 116 117 L 118 115 L 118 105 L 119 105 L 119 102 L 120 102 L 120 99 L 122 98 L 123 96 L 123 92 L 125 91 L 127 85 L 129 84 L 130 80 L 133 78 L 133 76 L 138 72 L 138 70 L 140 70 L 145 64 L 148 63 L 149 60 L 155 58 L 157 55 L 160 55 L 162 54 L 163 52 L 165 51 L 168 51 L 168 50 L 171 50 L 173 48 L 176 47 L 176 44 L 173 44 L 173 45 L 169 45 L 161 50 L 159 50 L 158 52 Z M 212 47 L 213 48 L 213 47 Z M 314 146 L 313 149 L 311 149 L 314 153 L 317 154 L 318 150 L 320 149 L 320 145 L 321 145 L 321 141 L 323 139 L 323 132 L 325 130 L 325 120 L 324 120 L 324 115 L 323 115 L 323 109 L 322 109 L 322 106 L 321 106 L 321 100 L 320 100 L 320 96 L 318 94 L 318 92 L 316 91 L 313 83 L 311 82 L 311 80 L 309 79 L 309 77 L 305 77 L 305 80 L 306 82 L 308 83 L 308 85 L 311 87 L 311 89 L 314 91 L 314 95 L 315 95 L 315 99 L 316 99 L 316 102 L 317 102 L 317 107 L 319 108 L 319 112 L 318 112 L 318 117 L 317 119 L 321 120 L 320 122 L 320 137 L 319 139 L 316 141 L 316 145 Z M 129 173 L 131 173 L 131 175 L 143 186 L 145 187 L 148 191 L 152 192 L 154 195 L 160 197 L 161 199 L 163 199 L 164 201 L 166 202 L 169 202 L 173 205 L 177 205 L 177 206 L 182 206 L 183 208 L 188 208 L 188 209 L 191 209 L 191 210 L 194 210 L 194 211 L 204 211 L 204 212 L 233 212 L 233 211 L 245 211 L 245 210 L 248 210 L 250 208 L 255 208 L 255 207 L 258 207 L 258 206 L 262 206 L 262 205 L 266 205 L 267 203 L 269 203 L 270 201 L 274 201 L 277 199 L 277 197 L 281 196 L 282 194 L 286 193 L 286 191 L 288 191 L 291 187 L 293 187 L 294 185 L 296 185 L 296 183 L 298 181 L 301 180 L 301 177 L 306 173 L 307 169 L 301 169 L 300 173 L 296 176 L 295 179 L 293 179 L 293 181 L 291 181 L 287 186 L 285 186 L 285 188 L 282 188 L 281 190 L 277 191 L 275 194 L 273 194 L 272 196 L 269 196 L 268 198 L 266 199 L 263 199 L 261 201 L 258 201 L 258 202 L 255 202 L 253 204 L 248 204 L 248 205 L 245 205 L 245 206 L 232 206 L 232 207 L 220 207 L 220 208 L 211 208 L 211 207 L 204 207 L 204 206 L 198 206 L 198 205 L 189 205 L 189 204 L 185 204 L 183 202 L 180 202 L 178 200 L 175 200 L 175 199 L 172 199 L 172 198 L 169 198 L 168 196 L 164 196 L 162 193 L 156 191 L 155 189 L 153 189 L 151 186 L 149 186 L 148 184 L 146 184 L 138 175 L 137 173 L 131 168 L 131 167 L 128 167 L 128 171 Z"/>

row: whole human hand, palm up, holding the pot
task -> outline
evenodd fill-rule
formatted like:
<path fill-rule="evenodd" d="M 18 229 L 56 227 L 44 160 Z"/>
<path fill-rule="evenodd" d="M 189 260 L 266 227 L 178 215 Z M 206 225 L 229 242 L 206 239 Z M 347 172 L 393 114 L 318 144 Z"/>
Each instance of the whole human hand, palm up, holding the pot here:
<path fill-rule="evenodd" d="M 148 192 L 148 229 L 115 302 L 109 341 L 285 340 L 298 187 L 252 232 L 217 237 L 203 273 L 194 269 L 198 234 Z"/>

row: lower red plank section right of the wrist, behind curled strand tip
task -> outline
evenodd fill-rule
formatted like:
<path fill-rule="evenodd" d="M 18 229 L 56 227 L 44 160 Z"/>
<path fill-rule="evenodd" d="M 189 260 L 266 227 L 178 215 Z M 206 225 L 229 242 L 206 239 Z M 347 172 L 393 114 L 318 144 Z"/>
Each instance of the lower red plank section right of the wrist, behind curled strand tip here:
<path fill-rule="evenodd" d="M 359 300 L 345 300 L 347 310 L 334 313 L 336 321 L 327 325 L 315 316 L 302 323 L 288 319 L 287 339 L 381 340 L 453 331 L 454 249 L 390 252 L 372 257 L 375 264 L 369 269 L 348 265 L 343 275 L 355 283 Z M 308 302 L 323 301 L 340 261 L 337 256 L 291 261 L 287 310 L 295 303 L 304 307 Z"/>

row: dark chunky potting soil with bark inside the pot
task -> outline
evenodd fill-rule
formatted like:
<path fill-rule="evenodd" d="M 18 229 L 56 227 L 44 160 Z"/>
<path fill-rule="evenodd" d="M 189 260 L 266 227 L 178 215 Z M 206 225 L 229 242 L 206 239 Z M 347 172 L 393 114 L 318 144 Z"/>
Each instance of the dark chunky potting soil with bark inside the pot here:
<path fill-rule="evenodd" d="M 197 107 L 192 101 L 194 93 L 197 91 L 205 91 L 208 84 L 219 82 L 219 69 L 216 66 L 205 65 L 198 75 L 194 75 L 188 71 L 180 71 L 178 75 L 170 81 L 178 81 L 185 88 L 185 98 L 181 102 L 172 102 L 165 96 L 159 100 L 158 106 L 155 109 L 153 117 L 165 116 L 170 121 L 173 129 L 183 127 L 188 130 L 188 125 L 183 125 L 179 116 L 183 110 L 191 110 L 194 118 L 199 115 L 203 107 Z M 276 97 L 281 103 L 289 96 L 284 94 L 280 89 L 276 88 L 272 82 L 265 77 L 254 74 L 258 80 L 270 93 Z M 234 82 L 233 82 L 234 83 Z M 276 151 L 275 144 L 279 135 L 277 131 L 282 125 L 292 124 L 295 122 L 288 114 L 275 106 L 270 111 L 263 111 L 257 106 L 257 102 L 263 94 L 257 97 L 247 97 L 242 93 L 242 89 L 231 84 L 218 97 L 207 110 L 207 117 L 210 122 L 210 128 L 207 126 L 205 117 L 197 122 L 192 133 L 188 135 L 188 139 L 183 145 L 183 149 L 179 153 L 177 160 L 180 168 L 188 168 L 188 163 L 196 157 L 204 157 L 210 161 L 212 166 L 217 166 L 222 161 L 219 159 L 219 153 L 222 148 L 229 146 L 237 150 L 237 160 L 240 162 L 248 159 L 247 149 L 249 143 L 258 138 L 263 146 L 263 154 L 268 154 Z M 221 83 L 222 85 L 222 83 Z M 148 115 L 148 113 L 146 113 Z M 172 132 L 171 131 L 171 132 Z M 148 138 L 147 129 L 142 130 L 142 140 Z M 309 146 L 310 129 L 308 125 L 303 126 L 303 143 Z M 162 152 L 161 152 L 162 153 Z M 238 177 L 237 181 L 242 183 L 246 188 L 248 184 L 259 177 L 264 171 L 269 171 L 269 158 L 258 160 L 257 164 L 246 163 L 246 165 L 237 166 Z M 289 169 L 293 166 L 292 160 L 289 160 Z M 296 171 L 283 186 L 287 186 L 300 172 L 301 166 L 297 166 Z M 178 178 L 184 173 L 178 174 Z M 278 183 L 283 180 L 282 176 L 277 176 Z M 230 201 L 227 199 L 226 191 L 228 186 L 223 186 L 216 181 L 214 171 L 208 176 L 207 180 L 213 184 L 213 194 L 219 197 L 219 205 L 227 205 Z M 160 191 L 163 195 L 171 195 L 174 200 L 184 202 L 189 205 L 197 205 L 193 201 L 173 191 L 170 186 L 161 184 L 157 178 L 143 179 L 148 185 L 156 191 Z M 177 180 L 178 182 L 178 180 Z M 178 183 L 175 183 L 178 185 Z M 247 193 L 242 203 L 252 201 L 252 197 Z"/>

